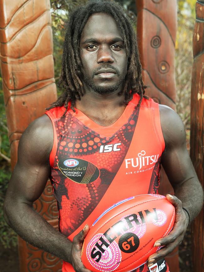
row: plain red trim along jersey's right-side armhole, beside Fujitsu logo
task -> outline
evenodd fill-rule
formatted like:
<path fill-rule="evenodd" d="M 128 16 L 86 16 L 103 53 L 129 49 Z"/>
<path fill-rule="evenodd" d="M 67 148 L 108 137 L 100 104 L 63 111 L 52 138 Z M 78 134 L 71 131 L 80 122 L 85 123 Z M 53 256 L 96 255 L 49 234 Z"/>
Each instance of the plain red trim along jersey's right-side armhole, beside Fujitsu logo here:
<path fill-rule="evenodd" d="M 152 101 L 152 105 L 153 105 L 153 110 L 154 110 L 154 120 L 155 120 L 155 129 L 156 129 L 156 133 L 158 135 L 159 138 L 159 143 L 161 146 L 161 152 L 164 152 L 165 149 L 165 141 L 164 141 L 164 136 L 163 136 L 163 132 L 162 132 L 162 127 L 161 127 L 161 120 L 160 120 L 160 113 L 159 113 L 159 104 Z"/>

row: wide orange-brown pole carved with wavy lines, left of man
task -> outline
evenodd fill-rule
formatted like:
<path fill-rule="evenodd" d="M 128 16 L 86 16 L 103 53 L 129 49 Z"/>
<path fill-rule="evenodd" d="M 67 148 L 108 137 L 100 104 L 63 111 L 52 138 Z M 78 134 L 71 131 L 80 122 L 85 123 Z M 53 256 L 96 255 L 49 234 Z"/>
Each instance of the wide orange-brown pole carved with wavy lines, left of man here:
<path fill-rule="evenodd" d="M 25 128 L 56 100 L 49 0 L 0 0 L 0 60 L 12 169 Z M 50 183 L 35 209 L 57 227 Z M 19 239 L 20 272 L 57 271 L 61 261 Z"/>

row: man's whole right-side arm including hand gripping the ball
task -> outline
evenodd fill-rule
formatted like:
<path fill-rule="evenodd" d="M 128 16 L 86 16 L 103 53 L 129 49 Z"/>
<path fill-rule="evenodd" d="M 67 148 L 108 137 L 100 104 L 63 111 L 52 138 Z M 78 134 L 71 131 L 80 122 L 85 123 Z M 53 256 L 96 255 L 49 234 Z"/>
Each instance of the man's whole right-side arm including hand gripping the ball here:
<path fill-rule="evenodd" d="M 203 189 L 186 150 L 185 128 L 180 117 L 169 107 L 160 105 L 160 119 L 165 141 L 161 163 L 175 192 L 175 196 L 167 195 L 167 199 L 174 205 L 176 213 L 173 230 L 155 242 L 155 247 L 165 247 L 149 257 L 149 266 L 182 242 L 188 224 L 198 215 L 203 204 Z M 190 221 L 182 207 L 188 210 Z"/>

